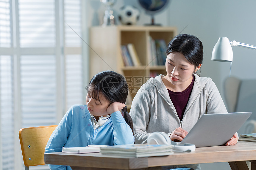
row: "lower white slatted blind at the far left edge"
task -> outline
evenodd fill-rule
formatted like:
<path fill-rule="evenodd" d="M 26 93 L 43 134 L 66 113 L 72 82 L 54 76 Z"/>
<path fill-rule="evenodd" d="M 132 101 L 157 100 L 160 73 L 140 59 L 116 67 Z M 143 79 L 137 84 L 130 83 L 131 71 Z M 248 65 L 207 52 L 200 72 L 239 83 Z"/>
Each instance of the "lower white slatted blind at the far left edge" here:
<path fill-rule="evenodd" d="M 12 57 L 0 55 L 0 113 L 1 113 L 1 162 L 3 170 L 13 170 L 14 125 L 13 125 L 13 66 Z"/>

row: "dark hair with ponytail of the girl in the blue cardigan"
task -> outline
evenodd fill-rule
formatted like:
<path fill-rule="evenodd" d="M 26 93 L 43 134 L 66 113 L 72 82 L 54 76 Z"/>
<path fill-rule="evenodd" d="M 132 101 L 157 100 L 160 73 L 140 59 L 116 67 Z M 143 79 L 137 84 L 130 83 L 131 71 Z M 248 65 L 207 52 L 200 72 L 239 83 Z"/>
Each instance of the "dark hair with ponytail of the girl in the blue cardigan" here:
<path fill-rule="evenodd" d="M 113 71 L 103 71 L 93 76 L 86 90 L 96 100 L 99 100 L 99 94 L 102 94 L 110 101 L 110 104 L 113 102 L 125 104 L 128 96 L 128 85 L 124 76 Z M 132 118 L 127 112 L 127 106 L 122 110 L 124 112 L 124 120 L 130 126 L 133 133 Z"/>

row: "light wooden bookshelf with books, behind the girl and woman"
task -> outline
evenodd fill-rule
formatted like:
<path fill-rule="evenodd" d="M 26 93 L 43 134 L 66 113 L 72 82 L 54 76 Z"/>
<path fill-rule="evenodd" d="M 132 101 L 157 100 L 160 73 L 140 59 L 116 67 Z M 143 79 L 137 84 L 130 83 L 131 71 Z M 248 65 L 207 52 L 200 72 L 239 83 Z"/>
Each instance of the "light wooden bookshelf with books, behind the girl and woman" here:
<path fill-rule="evenodd" d="M 176 27 L 107 26 L 90 28 L 90 78 L 98 72 L 113 70 L 126 77 L 130 98 L 150 78 L 166 74 L 164 65 L 152 65 L 150 37 L 165 40 L 166 45 L 177 35 Z M 133 44 L 141 65 L 125 66 L 121 45 Z M 166 48 L 164 49 L 164 51 Z M 131 101 L 127 101 L 128 108 Z"/>

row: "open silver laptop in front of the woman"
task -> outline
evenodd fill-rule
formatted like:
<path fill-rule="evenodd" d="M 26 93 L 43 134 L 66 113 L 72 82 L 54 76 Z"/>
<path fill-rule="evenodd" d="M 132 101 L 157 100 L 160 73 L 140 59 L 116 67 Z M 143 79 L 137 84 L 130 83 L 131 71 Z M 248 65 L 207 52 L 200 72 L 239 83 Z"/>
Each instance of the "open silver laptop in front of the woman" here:
<path fill-rule="evenodd" d="M 204 114 L 179 143 L 190 143 L 196 147 L 224 145 L 251 114 L 252 112 Z"/>

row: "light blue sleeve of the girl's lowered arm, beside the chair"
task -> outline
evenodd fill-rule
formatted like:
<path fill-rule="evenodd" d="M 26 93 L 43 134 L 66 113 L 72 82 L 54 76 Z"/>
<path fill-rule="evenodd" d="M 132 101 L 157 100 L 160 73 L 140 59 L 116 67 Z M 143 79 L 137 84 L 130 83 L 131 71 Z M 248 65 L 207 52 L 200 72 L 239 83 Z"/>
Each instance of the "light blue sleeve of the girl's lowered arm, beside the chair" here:
<path fill-rule="evenodd" d="M 71 107 L 64 115 L 59 125 L 51 134 L 45 148 L 45 153 L 61 152 L 62 147 L 67 142 L 72 127 L 73 107 Z M 66 170 L 63 165 L 49 165 L 51 170 Z"/>

